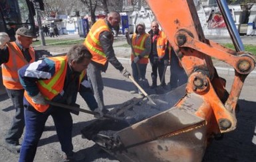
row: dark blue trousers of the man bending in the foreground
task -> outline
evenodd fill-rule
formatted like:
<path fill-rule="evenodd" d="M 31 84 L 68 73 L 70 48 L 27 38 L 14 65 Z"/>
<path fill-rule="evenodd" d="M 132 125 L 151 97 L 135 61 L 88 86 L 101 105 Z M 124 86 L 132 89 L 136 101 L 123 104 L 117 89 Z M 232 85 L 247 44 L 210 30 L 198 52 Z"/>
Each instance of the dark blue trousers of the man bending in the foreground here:
<path fill-rule="evenodd" d="M 55 123 L 57 136 L 61 143 L 61 149 L 68 154 L 72 151 L 72 116 L 69 110 L 65 108 L 52 107 L 47 113 L 41 113 L 35 110 L 33 106 L 25 103 L 25 136 L 21 145 L 21 155 L 19 161 L 32 162 L 37 151 L 37 144 L 43 134 L 45 122 L 51 115 Z"/>

